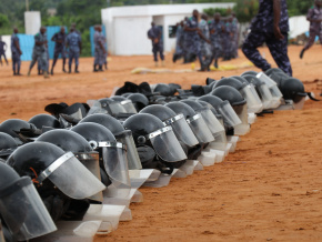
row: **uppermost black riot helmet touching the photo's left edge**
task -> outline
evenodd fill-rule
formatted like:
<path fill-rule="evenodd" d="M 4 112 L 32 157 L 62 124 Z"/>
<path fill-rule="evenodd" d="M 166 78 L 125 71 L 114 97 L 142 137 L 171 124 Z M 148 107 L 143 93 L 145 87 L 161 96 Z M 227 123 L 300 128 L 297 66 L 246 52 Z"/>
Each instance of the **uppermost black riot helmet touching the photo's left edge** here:
<path fill-rule="evenodd" d="M 21 129 L 30 129 L 30 124 L 21 119 L 9 119 L 0 124 L 0 132 L 8 133 L 10 137 L 21 144 L 19 135 L 14 131 L 20 131 Z"/>

